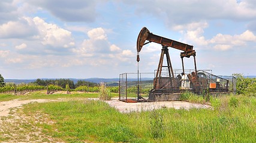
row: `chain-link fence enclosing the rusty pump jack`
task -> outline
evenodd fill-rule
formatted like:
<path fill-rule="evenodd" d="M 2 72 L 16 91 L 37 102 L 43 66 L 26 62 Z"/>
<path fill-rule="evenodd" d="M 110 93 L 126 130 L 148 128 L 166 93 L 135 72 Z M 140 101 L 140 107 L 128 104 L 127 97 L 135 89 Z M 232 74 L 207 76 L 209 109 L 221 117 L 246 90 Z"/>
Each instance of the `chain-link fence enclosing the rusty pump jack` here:
<path fill-rule="evenodd" d="M 174 94 L 185 91 L 202 93 L 236 92 L 236 78 L 215 76 L 212 70 L 173 70 L 163 69 L 159 73 L 123 73 L 119 75 L 119 100 L 122 101 L 161 101 L 177 100 Z M 155 77 L 160 75 L 160 77 Z M 170 97 L 168 97 L 170 95 Z M 172 97 L 171 97 L 172 96 Z M 174 97 L 173 97 L 174 96 Z"/>

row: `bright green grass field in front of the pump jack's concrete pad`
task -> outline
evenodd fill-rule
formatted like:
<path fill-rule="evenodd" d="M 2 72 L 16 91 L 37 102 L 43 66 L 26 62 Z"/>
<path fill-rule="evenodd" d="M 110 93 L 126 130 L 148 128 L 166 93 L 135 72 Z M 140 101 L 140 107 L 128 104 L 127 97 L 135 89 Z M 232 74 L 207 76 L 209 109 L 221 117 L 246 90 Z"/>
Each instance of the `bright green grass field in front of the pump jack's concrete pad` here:
<path fill-rule="evenodd" d="M 0 95 L 0 101 L 17 97 L 13 96 Z M 16 111 L 23 118 L 17 125 L 10 123 L 10 128 L 0 130 L 0 141 L 13 139 L 6 137 L 6 133 L 24 132 L 16 136 L 20 138 L 16 141 L 23 141 L 22 135 L 36 129 L 44 139 L 37 140 L 39 137 L 36 137 L 32 140 L 35 142 L 255 142 L 255 97 L 223 95 L 212 98 L 212 109 L 162 108 L 123 114 L 106 102 L 86 100 L 97 96 L 80 93 L 45 95 L 41 92 L 22 95 L 21 100 L 80 100 L 24 105 Z M 2 118 L 2 123 L 11 118 Z"/>

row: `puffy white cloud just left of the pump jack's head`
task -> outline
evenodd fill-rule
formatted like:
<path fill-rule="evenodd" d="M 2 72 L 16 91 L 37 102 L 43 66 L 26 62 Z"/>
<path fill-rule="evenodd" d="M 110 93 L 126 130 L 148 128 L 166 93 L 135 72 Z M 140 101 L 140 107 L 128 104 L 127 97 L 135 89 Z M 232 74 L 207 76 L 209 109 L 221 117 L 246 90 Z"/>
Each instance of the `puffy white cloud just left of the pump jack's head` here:
<path fill-rule="evenodd" d="M 101 27 L 91 29 L 87 34 L 89 38 L 85 39 L 79 48 L 73 48 L 73 52 L 77 53 L 80 58 L 86 58 L 86 61 L 82 60 L 83 64 L 90 64 L 91 66 L 118 66 L 119 62 L 113 64 L 113 60 L 118 59 L 118 61 L 130 63 L 131 58 L 135 57 L 131 50 L 121 49 L 119 46 L 108 41 L 107 34 Z M 69 63 L 65 66 L 72 65 L 74 66 L 75 64 Z"/>

